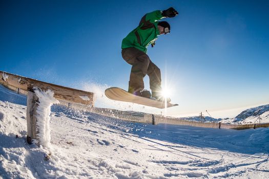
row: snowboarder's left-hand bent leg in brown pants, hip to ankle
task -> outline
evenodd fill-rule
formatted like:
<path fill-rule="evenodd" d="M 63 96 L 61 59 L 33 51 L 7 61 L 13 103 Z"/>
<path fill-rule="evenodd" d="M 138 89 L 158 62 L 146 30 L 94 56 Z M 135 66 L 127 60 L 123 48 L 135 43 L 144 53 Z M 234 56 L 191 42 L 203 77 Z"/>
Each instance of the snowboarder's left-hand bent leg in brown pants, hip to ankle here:
<path fill-rule="evenodd" d="M 136 48 L 122 49 L 121 54 L 122 58 L 132 65 L 128 92 L 134 94 L 142 91 L 144 89 L 143 78 L 147 75 L 150 63 L 149 56 Z"/>

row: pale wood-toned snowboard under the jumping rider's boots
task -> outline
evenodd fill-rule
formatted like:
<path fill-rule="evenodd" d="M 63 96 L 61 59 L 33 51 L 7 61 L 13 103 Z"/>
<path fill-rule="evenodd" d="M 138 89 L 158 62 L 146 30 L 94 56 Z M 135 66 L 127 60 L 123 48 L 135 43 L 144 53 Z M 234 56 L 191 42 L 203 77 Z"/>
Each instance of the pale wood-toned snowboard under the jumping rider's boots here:
<path fill-rule="evenodd" d="M 166 106 L 165 106 L 165 102 L 136 96 L 131 93 L 128 93 L 127 91 L 119 87 L 107 88 L 105 91 L 105 94 L 109 99 L 112 99 L 112 100 L 132 102 L 132 103 L 142 104 L 146 106 L 157 107 L 161 109 L 165 107 L 173 107 L 173 106 L 178 105 L 178 104 L 166 103 Z"/>

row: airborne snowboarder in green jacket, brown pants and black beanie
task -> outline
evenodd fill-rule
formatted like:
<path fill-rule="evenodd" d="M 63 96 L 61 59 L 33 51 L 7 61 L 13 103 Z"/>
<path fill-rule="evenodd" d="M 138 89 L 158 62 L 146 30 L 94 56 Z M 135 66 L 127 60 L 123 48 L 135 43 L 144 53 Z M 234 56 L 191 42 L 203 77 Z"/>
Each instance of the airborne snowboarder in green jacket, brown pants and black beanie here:
<path fill-rule="evenodd" d="M 167 21 L 159 21 L 165 17 L 175 17 L 178 12 L 174 8 L 157 10 L 144 15 L 139 26 L 130 32 L 121 44 L 122 58 L 132 65 L 128 92 L 137 96 L 153 98 L 164 101 L 161 95 L 160 69 L 150 60 L 146 54 L 147 47 L 155 45 L 159 35 L 170 33 L 170 25 Z M 148 75 L 152 94 L 144 89 L 143 78 Z M 168 98 L 167 102 L 171 100 Z"/>

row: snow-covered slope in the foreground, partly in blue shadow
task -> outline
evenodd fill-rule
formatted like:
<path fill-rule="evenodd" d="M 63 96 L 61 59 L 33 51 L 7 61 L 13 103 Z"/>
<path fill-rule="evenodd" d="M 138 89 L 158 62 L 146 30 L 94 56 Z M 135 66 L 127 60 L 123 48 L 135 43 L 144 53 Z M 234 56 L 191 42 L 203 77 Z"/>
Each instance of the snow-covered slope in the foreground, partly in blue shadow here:
<path fill-rule="evenodd" d="M 52 106 L 50 129 L 50 148 L 28 145 L 26 98 L 0 88 L 0 178 L 269 176 L 269 128 L 146 125 Z"/>

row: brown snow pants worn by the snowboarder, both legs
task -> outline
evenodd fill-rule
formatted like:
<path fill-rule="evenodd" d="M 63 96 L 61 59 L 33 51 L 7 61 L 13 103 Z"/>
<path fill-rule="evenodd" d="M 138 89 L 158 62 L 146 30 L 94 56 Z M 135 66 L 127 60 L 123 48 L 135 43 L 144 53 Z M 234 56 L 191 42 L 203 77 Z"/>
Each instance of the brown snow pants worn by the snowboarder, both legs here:
<path fill-rule="evenodd" d="M 121 55 L 132 65 L 128 92 L 135 93 L 144 89 L 143 78 L 148 75 L 152 96 L 157 95 L 161 91 L 161 72 L 149 56 L 134 47 L 122 49 Z"/>

